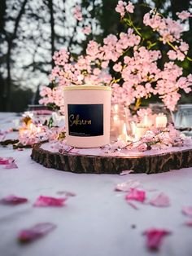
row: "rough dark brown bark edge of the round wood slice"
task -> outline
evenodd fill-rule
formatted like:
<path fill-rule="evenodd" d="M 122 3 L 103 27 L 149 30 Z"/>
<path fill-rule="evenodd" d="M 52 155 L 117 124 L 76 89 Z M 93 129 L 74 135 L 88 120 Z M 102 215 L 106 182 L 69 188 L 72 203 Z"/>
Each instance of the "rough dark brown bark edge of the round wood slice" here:
<path fill-rule="evenodd" d="M 41 143 L 37 143 L 33 146 L 31 157 L 47 168 L 87 174 L 120 174 L 122 170 L 156 174 L 192 166 L 192 148 L 176 152 L 173 150 L 159 155 L 103 157 L 50 152 L 41 148 Z"/>

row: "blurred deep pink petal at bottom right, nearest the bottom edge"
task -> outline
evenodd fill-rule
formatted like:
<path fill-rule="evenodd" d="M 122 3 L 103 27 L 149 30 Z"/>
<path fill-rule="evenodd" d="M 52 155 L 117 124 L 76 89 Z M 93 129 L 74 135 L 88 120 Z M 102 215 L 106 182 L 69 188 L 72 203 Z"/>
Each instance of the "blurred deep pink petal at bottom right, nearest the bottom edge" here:
<path fill-rule="evenodd" d="M 150 228 L 143 232 L 146 235 L 146 247 L 148 249 L 159 249 L 164 236 L 170 234 L 166 229 Z"/>

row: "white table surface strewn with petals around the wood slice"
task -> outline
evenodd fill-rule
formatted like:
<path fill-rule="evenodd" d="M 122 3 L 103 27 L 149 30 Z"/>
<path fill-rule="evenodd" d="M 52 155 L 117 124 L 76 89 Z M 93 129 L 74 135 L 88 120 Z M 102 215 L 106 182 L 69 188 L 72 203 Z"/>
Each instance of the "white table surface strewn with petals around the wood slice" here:
<path fill-rule="evenodd" d="M 12 114 L 0 113 L 0 130 L 11 126 Z M 16 151 L 0 147 L 0 157 L 14 157 L 18 169 L 0 169 L 0 198 L 10 194 L 27 197 L 23 205 L 0 205 L 1 256 L 191 256 L 192 227 L 181 207 L 192 205 L 192 168 L 162 174 L 72 174 L 46 169 L 30 158 L 31 149 Z M 165 192 L 171 200 L 166 208 L 142 205 L 134 210 L 115 192 L 116 183 L 134 179 L 147 198 Z M 58 196 L 59 191 L 75 192 L 62 208 L 33 207 L 38 196 Z M 20 245 L 20 229 L 36 223 L 55 223 L 57 228 L 28 245 Z M 132 225 L 136 227 L 133 228 Z M 149 252 L 142 232 L 149 227 L 168 228 L 158 253 Z"/>

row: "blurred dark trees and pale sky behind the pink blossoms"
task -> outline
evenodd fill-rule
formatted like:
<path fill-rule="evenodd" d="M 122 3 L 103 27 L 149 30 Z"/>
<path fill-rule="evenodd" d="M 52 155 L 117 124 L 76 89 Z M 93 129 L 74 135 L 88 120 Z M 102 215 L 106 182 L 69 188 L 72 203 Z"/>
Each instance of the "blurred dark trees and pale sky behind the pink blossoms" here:
<path fill-rule="evenodd" d="M 84 53 L 87 42 L 102 42 L 110 33 L 120 33 L 118 0 L 0 0 L 0 112 L 24 111 L 28 104 L 37 104 L 37 92 L 48 85 L 53 67 L 52 55 L 62 47 L 76 54 Z M 127 1 L 128 2 L 128 1 Z M 190 10 L 190 0 L 133 0 L 137 24 L 148 7 L 156 7 L 163 15 L 177 19 L 177 11 Z M 85 20 L 72 16 L 76 3 L 81 5 Z M 82 27 L 91 25 L 85 37 Z M 192 57 L 192 19 L 184 40 L 190 44 Z M 147 32 L 146 32 L 147 33 Z M 182 63 L 185 74 L 192 73 L 192 63 Z M 182 95 L 181 104 L 192 103 L 192 94 Z"/>

